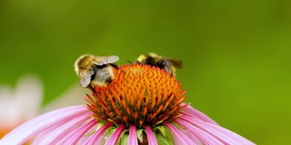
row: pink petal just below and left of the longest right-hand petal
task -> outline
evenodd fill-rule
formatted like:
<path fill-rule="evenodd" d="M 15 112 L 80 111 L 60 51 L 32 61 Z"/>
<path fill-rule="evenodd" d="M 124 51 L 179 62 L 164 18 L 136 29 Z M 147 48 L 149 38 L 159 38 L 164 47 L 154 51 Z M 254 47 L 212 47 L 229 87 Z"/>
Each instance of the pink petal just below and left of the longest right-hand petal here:
<path fill-rule="evenodd" d="M 196 126 L 194 126 L 186 121 L 179 120 L 179 119 L 176 119 L 175 121 L 178 124 L 182 125 L 184 128 L 186 128 L 187 131 L 190 131 L 191 133 L 193 133 L 199 140 L 201 140 L 205 144 L 224 145 L 223 142 L 217 140 L 215 137 L 211 136 L 206 131 L 202 131 L 199 128 L 197 128 Z"/>

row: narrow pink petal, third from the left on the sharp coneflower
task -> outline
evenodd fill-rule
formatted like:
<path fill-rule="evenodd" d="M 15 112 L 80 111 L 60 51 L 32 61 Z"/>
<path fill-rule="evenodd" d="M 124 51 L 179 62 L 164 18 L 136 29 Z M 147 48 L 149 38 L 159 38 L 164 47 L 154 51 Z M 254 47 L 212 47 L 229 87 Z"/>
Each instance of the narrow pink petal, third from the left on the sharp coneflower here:
<path fill-rule="evenodd" d="M 96 124 L 97 122 L 95 119 L 86 122 L 79 129 L 69 133 L 64 139 L 59 141 L 58 144 L 76 144 L 82 137 L 84 137 L 85 133 L 90 131 Z"/>

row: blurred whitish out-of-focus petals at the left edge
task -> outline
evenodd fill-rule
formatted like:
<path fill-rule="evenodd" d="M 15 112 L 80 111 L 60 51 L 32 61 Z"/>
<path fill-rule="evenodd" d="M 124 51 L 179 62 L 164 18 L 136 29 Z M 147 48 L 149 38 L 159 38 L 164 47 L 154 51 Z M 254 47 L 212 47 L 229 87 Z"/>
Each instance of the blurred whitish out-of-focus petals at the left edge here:
<path fill-rule="evenodd" d="M 15 90 L 0 86 L 0 131 L 12 130 L 38 114 L 43 97 L 43 85 L 35 75 L 25 75 Z M 1 137 L 1 136 L 0 136 Z"/>

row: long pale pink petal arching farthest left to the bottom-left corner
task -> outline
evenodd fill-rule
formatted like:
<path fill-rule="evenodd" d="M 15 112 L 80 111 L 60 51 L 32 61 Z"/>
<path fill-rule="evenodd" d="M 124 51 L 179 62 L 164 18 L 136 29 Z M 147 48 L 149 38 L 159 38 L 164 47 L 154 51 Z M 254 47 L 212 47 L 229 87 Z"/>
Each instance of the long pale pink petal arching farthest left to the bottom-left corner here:
<path fill-rule="evenodd" d="M 91 111 L 87 110 L 83 105 L 50 111 L 15 128 L 14 131 L 5 135 L 1 143 L 23 144 L 42 131 L 55 129 L 65 122 L 73 120 L 75 117 L 90 114 Z"/>

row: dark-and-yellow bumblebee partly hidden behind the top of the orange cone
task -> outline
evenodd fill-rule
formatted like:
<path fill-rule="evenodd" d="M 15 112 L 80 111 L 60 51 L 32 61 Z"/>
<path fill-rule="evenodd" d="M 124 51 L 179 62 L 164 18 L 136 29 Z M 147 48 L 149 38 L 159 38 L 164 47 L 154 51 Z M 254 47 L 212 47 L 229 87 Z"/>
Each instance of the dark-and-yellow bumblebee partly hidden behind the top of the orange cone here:
<path fill-rule="evenodd" d="M 160 69 L 164 69 L 166 73 L 171 73 L 172 75 L 176 75 L 176 69 L 183 68 L 182 61 L 174 58 L 159 56 L 156 53 L 141 54 L 136 59 L 135 63 L 156 66 Z"/>

